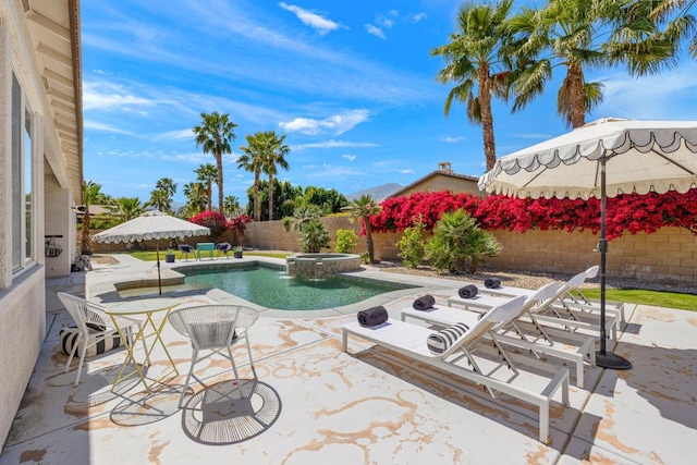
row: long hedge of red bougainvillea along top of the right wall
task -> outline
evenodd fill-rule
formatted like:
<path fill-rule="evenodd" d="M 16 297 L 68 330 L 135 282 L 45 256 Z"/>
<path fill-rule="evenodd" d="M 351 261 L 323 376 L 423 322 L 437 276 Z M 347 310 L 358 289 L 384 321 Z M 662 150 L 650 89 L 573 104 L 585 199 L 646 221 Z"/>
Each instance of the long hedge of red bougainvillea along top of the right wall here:
<path fill-rule="evenodd" d="M 402 232 L 420 218 L 432 230 L 443 212 L 464 210 L 487 230 L 525 232 L 530 229 L 567 232 L 600 230 L 600 200 L 517 198 L 469 193 L 421 192 L 386 199 L 382 212 L 370 217 L 374 232 Z M 663 227 L 686 228 L 697 235 L 697 188 L 686 194 L 624 194 L 608 198 L 609 240 L 625 232 L 653 233 Z"/>

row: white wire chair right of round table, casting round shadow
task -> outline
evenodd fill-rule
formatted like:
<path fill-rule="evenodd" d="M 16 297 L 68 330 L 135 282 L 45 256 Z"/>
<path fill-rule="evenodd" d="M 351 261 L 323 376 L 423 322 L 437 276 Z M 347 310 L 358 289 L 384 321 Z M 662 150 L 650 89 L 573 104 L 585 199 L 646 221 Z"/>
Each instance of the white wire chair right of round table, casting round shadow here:
<path fill-rule="evenodd" d="M 242 339 L 245 340 L 247 355 L 249 357 L 249 367 L 256 380 L 257 374 L 254 369 L 247 332 L 259 318 L 259 313 L 254 308 L 242 305 L 197 305 L 175 309 L 170 313 L 168 318 L 174 329 L 192 342 L 192 363 L 188 374 L 186 375 L 179 407 L 181 408 L 183 405 L 192 378 L 196 379 L 201 386 L 207 387 L 200 378 L 194 375 L 194 367 L 197 363 L 215 354 L 221 355 L 230 360 L 232 371 L 235 376 L 237 391 L 242 397 L 244 394 L 242 393 L 240 375 L 237 374 L 237 367 L 231 347 Z M 199 357 L 199 351 L 210 351 L 210 353 Z"/>

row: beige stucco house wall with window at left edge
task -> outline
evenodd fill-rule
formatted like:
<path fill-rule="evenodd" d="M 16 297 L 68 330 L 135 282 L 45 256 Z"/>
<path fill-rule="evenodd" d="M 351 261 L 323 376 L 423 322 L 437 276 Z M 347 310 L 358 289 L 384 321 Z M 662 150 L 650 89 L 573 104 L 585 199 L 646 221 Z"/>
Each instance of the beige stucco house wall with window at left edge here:
<path fill-rule="evenodd" d="M 70 170 L 57 149 L 61 145 L 52 118 L 47 118 L 48 102 L 26 24 L 25 5 L 19 0 L 0 2 L 0 374 L 3 379 L 0 383 L 0 448 L 4 446 L 46 335 L 46 211 L 50 208 L 66 212 L 72 207 Z M 13 101 L 17 101 L 13 99 L 13 82 L 19 83 L 22 101 L 15 108 L 22 111 L 13 111 Z M 28 137 L 24 135 L 26 126 L 23 127 L 14 117 L 20 113 L 28 115 L 30 121 Z M 12 136 L 13 126 L 19 127 L 24 137 L 19 145 L 17 138 Z M 30 150 L 16 149 L 23 145 L 29 146 Z M 27 152 L 30 155 L 26 156 Z M 19 158 L 22 158 L 21 163 L 30 167 L 30 179 L 22 175 L 17 181 L 13 175 L 13 160 L 16 163 Z M 52 170 L 45 174 L 47 162 L 62 173 L 60 179 Z M 21 164 L 21 171 L 28 170 Z M 57 191 L 45 191 L 45 175 L 53 180 Z M 13 186 L 16 187 L 14 191 Z M 28 201 L 24 198 L 27 191 L 30 191 Z M 58 191 L 62 194 L 54 196 Z M 17 192 L 23 196 L 19 203 Z M 47 200 L 47 195 L 52 198 Z M 16 205 L 22 205 L 20 217 Z M 25 217 L 27 205 L 30 217 Z M 28 234 L 23 231 L 17 236 L 17 218 L 20 223 L 25 222 L 21 228 L 29 231 Z M 51 234 L 63 234 L 68 241 L 71 241 L 71 234 L 74 236 L 68 222 L 56 228 L 51 224 L 50 229 Z M 17 243 L 22 244 L 19 259 Z M 28 256 L 24 248 L 26 243 L 30 244 Z M 74 247 L 69 245 L 63 254 L 70 256 L 72 250 Z M 56 267 L 62 274 L 70 272 L 70 264 Z"/>

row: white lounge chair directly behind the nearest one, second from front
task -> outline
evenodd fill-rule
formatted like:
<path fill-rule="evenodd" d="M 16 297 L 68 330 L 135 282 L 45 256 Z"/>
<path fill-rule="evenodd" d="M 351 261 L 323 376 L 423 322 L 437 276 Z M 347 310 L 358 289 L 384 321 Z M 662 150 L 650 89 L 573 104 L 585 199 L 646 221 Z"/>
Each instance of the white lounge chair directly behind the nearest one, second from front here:
<path fill-rule="evenodd" d="M 597 338 L 592 335 L 582 335 L 572 338 L 577 343 L 571 344 L 561 344 L 557 343 L 557 341 L 552 340 L 549 333 L 539 325 L 535 319 L 535 314 L 537 311 L 541 311 L 545 305 L 550 305 L 552 301 L 557 298 L 559 293 L 562 292 L 562 287 L 555 283 L 551 282 L 549 284 L 543 285 L 538 289 L 531 296 L 527 297 L 525 304 L 521 308 L 519 314 L 512 318 L 506 325 L 501 326 L 490 334 L 497 341 L 502 342 L 506 345 L 512 345 L 515 347 L 521 347 L 525 350 L 529 350 L 538 356 L 539 353 L 551 355 L 561 359 L 568 360 L 576 366 L 576 384 L 579 388 L 584 387 L 584 360 L 587 359 L 591 366 L 596 365 L 596 351 L 595 345 Z M 489 297 L 489 302 L 493 304 L 493 306 L 501 305 L 505 303 L 509 297 Z M 473 321 L 481 316 L 480 313 L 467 310 L 464 308 L 454 308 L 454 307 L 441 307 L 435 306 L 433 308 L 429 308 L 426 310 L 417 310 L 413 307 L 404 308 L 401 311 L 402 321 L 406 321 L 406 318 L 414 318 L 421 321 L 426 321 L 435 325 L 454 325 L 458 321 Z M 531 323 L 536 327 L 537 332 L 539 332 L 546 341 L 539 341 L 529 336 L 526 331 L 524 331 L 521 327 L 521 321 L 518 318 L 527 316 Z M 506 334 L 510 328 L 515 332 L 515 336 Z"/>

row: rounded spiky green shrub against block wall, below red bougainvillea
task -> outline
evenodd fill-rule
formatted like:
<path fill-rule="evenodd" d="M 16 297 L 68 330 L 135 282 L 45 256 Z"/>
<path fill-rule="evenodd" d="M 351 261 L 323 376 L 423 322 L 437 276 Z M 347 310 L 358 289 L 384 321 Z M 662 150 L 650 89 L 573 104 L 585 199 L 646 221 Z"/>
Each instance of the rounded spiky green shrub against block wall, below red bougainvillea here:
<path fill-rule="evenodd" d="M 451 272 L 477 271 L 485 257 L 501 252 L 501 244 L 463 210 L 443 213 L 426 243 L 426 258 L 439 270 Z"/>

